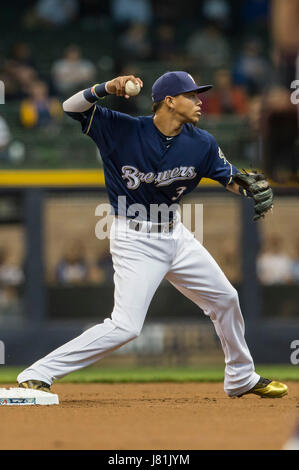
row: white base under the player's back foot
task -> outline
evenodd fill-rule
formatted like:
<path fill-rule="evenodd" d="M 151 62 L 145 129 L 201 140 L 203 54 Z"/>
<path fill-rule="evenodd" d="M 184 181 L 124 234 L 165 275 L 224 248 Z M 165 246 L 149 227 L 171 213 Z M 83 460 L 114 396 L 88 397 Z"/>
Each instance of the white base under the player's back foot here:
<path fill-rule="evenodd" d="M 2 405 L 59 405 L 58 395 L 32 388 L 0 388 Z"/>

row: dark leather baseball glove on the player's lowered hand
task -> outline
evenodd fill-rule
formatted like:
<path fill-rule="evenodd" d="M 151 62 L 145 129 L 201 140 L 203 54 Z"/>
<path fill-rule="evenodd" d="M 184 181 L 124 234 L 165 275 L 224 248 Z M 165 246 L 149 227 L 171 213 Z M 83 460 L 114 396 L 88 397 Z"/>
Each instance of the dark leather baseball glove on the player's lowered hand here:
<path fill-rule="evenodd" d="M 273 191 L 262 173 L 243 171 L 245 173 L 233 175 L 233 181 L 245 189 L 247 196 L 253 198 L 255 212 L 253 220 L 256 221 L 273 208 Z"/>

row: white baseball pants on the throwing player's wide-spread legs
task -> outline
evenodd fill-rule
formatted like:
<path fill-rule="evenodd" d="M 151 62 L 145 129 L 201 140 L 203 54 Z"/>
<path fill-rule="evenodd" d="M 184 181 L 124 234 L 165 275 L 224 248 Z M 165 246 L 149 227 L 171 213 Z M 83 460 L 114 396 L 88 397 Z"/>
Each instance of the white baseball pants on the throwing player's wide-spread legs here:
<path fill-rule="evenodd" d="M 234 396 L 251 389 L 260 376 L 245 342 L 238 294 L 216 261 L 180 221 L 173 232 L 161 234 L 147 233 L 147 223 L 140 232 L 128 228 L 128 223 L 118 217 L 111 227 L 115 269 L 111 318 L 35 362 L 19 374 L 18 382 L 42 380 L 51 385 L 136 338 L 166 277 L 211 318 L 225 356 L 225 392 Z"/>

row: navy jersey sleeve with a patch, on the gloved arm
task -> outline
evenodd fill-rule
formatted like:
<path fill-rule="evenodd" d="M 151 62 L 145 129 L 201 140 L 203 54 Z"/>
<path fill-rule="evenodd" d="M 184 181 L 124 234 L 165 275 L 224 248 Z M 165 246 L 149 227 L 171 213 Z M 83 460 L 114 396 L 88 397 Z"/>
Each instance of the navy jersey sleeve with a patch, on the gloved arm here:
<path fill-rule="evenodd" d="M 223 186 L 230 184 L 233 175 L 239 172 L 238 168 L 225 158 L 224 153 L 212 136 L 206 168 L 205 177 L 218 181 Z"/>

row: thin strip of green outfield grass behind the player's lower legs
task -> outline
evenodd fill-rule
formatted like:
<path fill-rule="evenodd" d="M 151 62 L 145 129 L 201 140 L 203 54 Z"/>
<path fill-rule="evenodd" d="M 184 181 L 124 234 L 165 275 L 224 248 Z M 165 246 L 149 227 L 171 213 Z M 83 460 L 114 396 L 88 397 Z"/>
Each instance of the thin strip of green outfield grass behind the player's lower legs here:
<path fill-rule="evenodd" d="M 22 367 L 0 366 L 0 383 L 10 384 Z M 263 377 L 279 380 L 298 380 L 299 367 L 292 365 L 259 365 L 256 372 Z M 222 382 L 222 366 L 200 367 L 89 367 L 73 372 L 61 383 L 125 383 L 125 382 Z"/>

